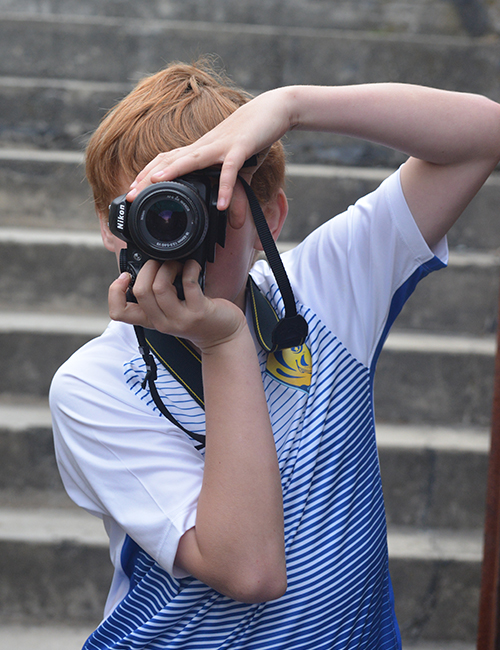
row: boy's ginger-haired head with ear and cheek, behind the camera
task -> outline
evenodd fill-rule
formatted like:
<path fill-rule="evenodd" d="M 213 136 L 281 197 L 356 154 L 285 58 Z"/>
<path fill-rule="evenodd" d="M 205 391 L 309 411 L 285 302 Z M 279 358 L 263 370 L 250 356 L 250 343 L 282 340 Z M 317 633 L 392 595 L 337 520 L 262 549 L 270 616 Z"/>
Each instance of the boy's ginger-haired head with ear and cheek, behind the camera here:
<path fill-rule="evenodd" d="M 86 172 L 109 250 L 117 252 L 124 245 L 107 227 L 111 201 L 128 190 L 156 155 L 195 142 L 249 99 L 202 59 L 192 65 L 173 63 L 146 77 L 107 113 L 88 144 Z M 276 237 L 286 214 L 284 177 L 283 147 L 275 143 L 250 182 Z M 239 189 L 229 210 L 226 246 L 207 268 L 207 295 L 230 300 L 241 296 L 242 282 L 261 250 Z M 244 280 L 232 280 L 237 277 Z"/>

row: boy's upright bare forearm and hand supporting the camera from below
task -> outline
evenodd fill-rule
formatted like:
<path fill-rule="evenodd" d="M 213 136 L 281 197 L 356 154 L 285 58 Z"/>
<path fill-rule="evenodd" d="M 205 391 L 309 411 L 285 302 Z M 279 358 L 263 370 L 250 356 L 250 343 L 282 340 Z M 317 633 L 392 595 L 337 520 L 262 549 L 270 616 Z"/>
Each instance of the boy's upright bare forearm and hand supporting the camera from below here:
<path fill-rule="evenodd" d="M 126 274 L 111 286 L 112 318 L 181 335 L 202 354 L 206 453 L 196 525 L 176 565 L 217 591 L 262 602 L 286 589 L 281 479 L 258 359 L 243 311 L 207 298 L 199 266 L 186 262 L 185 301 L 177 263 L 148 262 L 127 303 Z"/>

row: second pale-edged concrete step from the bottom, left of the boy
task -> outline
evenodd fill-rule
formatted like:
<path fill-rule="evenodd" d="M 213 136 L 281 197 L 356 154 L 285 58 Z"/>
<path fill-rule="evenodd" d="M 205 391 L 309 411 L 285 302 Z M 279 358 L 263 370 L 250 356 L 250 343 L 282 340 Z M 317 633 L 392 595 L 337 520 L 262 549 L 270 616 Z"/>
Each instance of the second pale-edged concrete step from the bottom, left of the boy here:
<path fill-rule="evenodd" d="M 74 508 L 2 510 L 0 531 L 2 623 L 99 622 L 112 574 L 101 522 Z"/>

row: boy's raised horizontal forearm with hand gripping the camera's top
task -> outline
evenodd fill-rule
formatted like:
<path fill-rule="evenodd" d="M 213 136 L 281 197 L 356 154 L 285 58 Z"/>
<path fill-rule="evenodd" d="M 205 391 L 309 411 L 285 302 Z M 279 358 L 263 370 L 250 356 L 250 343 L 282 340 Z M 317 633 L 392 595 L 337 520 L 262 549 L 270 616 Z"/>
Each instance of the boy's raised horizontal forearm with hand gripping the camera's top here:
<path fill-rule="evenodd" d="M 277 88 L 193 145 L 157 156 L 138 175 L 128 199 L 151 181 L 222 165 L 218 207 L 226 209 L 244 162 L 292 129 L 358 137 L 436 165 L 484 162 L 478 174 L 484 182 L 499 156 L 499 112 L 496 102 L 479 95 L 410 84 Z"/>

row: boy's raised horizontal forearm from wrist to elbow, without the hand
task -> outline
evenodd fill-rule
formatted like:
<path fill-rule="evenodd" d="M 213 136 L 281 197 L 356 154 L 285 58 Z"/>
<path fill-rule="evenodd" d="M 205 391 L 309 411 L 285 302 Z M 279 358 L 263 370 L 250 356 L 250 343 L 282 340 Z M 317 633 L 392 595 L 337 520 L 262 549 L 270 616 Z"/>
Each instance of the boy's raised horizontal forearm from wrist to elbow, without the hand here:
<path fill-rule="evenodd" d="M 498 105 L 409 84 L 282 89 L 290 128 L 363 138 L 436 164 L 498 155 Z"/>

